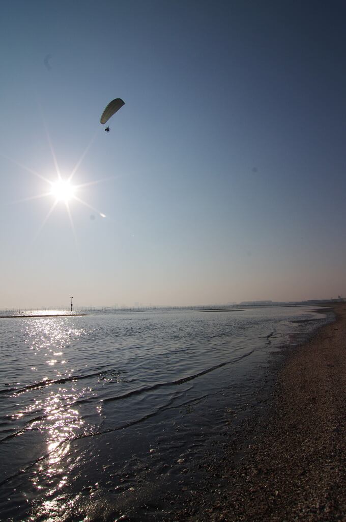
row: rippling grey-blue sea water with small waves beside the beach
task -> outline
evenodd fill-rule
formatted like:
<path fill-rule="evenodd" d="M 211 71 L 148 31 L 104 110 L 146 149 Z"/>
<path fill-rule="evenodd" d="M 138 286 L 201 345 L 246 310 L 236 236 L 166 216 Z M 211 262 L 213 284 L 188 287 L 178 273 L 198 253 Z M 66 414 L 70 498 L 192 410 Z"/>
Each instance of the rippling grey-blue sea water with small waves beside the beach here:
<path fill-rule="evenodd" d="M 164 517 L 165 495 L 197 488 L 189 471 L 260 404 L 282 346 L 330 320 L 307 307 L 0 319 L 0 519 Z"/>

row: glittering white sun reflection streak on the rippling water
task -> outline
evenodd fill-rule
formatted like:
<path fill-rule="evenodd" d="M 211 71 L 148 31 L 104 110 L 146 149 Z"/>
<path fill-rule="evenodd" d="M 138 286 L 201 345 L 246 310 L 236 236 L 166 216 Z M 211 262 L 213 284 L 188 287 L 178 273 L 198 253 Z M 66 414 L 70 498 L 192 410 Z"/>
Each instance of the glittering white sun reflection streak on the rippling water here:
<path fill-rule="evenodd" d="M 76 340 L 83 335 L 83 329 L 73 321 L 67 317 L 31 319 L 22 330 L 30 348 L 27 370 L 32 378 L 16 393 L 22 400 L 13 419 L 29 419 L 25 433 L 32 433 L 41 447 L 31 477 L 40 499 L 35 502 L 34 520 L 62 520 L 64 512 L 73 508 L 73 500 L 64 500 L 71 483 L 70 472 L 79 460 L 71 444 L 91 429 L 76 406 L 78 400 L 93 396 L 93 390 L 73 379 L 79 360 L 73 347 L 78 346 Z M 77 371 L 76 376 L 79 374 Z"/>

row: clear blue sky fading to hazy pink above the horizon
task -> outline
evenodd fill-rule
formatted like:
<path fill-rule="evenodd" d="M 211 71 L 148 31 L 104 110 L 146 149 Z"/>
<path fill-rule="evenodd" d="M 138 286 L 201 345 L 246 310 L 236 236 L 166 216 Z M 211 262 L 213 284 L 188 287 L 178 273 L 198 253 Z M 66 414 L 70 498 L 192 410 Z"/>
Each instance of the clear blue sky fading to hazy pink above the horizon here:
<path fill-rule="evenodd" d="M 344 2 L 1 8 L 0 309 L 346 296 Z"/>

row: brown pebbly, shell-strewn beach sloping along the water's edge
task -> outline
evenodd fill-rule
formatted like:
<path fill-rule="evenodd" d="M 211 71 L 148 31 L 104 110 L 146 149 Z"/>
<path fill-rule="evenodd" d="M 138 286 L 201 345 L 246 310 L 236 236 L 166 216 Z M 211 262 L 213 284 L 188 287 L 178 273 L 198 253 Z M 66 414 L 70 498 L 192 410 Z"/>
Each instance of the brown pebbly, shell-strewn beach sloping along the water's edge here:
<path fill-rule="evenodd" d="M 265 414 L 208 462 L 174 520 L 346 520 L 346 303 L 288 351 Z"/>

